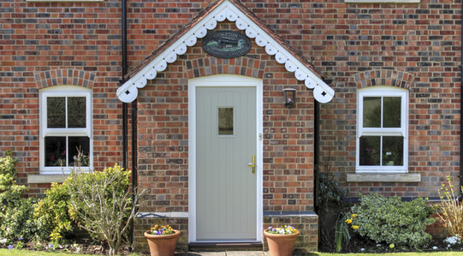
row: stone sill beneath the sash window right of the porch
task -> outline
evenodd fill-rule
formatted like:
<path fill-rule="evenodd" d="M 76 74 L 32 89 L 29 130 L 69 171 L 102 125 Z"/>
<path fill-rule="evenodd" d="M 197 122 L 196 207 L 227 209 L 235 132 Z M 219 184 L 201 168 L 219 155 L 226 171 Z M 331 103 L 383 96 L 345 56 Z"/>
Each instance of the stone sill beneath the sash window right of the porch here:
<path fill-rule="evenodd" d="M 420 173 L 347 173 L 347 182 L 421 182 Z"/>

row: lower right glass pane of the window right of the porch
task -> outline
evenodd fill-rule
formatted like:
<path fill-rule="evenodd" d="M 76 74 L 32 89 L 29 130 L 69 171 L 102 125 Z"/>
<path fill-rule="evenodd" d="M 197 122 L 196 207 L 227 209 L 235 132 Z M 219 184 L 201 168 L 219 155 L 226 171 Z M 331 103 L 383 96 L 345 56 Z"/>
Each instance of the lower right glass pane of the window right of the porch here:
<path fill-rule="evenodd" d="M 404 165 L 404 137 L 382 137 L 382 165 Z"/>

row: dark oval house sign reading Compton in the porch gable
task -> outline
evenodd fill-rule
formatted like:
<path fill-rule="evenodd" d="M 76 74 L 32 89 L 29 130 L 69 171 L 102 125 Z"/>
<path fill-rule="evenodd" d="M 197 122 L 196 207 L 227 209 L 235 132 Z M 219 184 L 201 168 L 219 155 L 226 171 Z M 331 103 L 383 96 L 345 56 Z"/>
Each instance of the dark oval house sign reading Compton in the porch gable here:
<path fill-rule="evenodd" d="M 203 49 L 218 58 L 236 58 L 249 52 L 251 41 L 244 34 L 218 30 L 207 33 L 203 39 Z"/>

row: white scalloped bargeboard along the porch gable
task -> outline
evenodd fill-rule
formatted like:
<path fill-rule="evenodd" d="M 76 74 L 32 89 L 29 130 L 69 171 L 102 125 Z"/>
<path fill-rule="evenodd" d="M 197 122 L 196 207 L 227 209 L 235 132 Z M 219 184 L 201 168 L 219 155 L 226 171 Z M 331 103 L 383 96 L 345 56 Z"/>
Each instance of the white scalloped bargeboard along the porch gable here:
<path fill-rule="evenodd" d="M 225 8 L 223 7 L 225 5 Z M 183 41 L 177 41 L 172 44 L 167 50 L 162 52 L 158 58 L 155 58 L 151 63 L 135 74 L 129 81 L 121 85 L 117 89 L 117 96 L 124 103 L 130 103 L 138 96 L 138 88 L 145 87 L 147 80 L 156 78 L 157 72 L 163 72 L 168 63 L 174 63 L 178 55 L 183 55 L 187 52 L 187 47 L 196 44 L 197 39 L 202 39 L 207 34 L 207 30 L 216 28 L 218 22 L 225 19 L 235 21 L 236 28 L 245 30 L 245 34 L 250 39 L 256 39 L 256 44 L 260 47 L 265 47 L 265 52 L 269 55 L 275 55 L 276 61 L 284 64 L 288 72 L 294 72 L 294 76 L 298 81 L 305 81 L 305 86 L 313 89 L 313 96 L 320 103 L 329 102 L 334 96 L 334 90 L 323 82 L 316 74 L 313 74 L 300 63 L 294 56 L 291 56 L 284 47 L 272 39 L 264 30 L 259 28 L 256 23 L 247 18 L 238 8 L 232 5 L 229 1 L 224 1 L 216 8 L 219 10 L 214 15 L 212 12 L 207 15 L 203 21 L 198 22 L 186 34 L 182 36 Z M 209 19 L 207 19 L 209 18 Z"/>

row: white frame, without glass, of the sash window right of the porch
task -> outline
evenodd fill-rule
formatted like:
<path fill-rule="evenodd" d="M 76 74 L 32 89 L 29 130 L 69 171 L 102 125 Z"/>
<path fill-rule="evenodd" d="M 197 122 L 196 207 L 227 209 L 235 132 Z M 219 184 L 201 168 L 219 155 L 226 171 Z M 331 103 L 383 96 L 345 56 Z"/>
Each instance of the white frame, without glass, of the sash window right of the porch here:
<path fill-rule="evenodd" d="M 409 167 L 409 92 L 407 89 L 375 86 L 359 89 L 357 94 L 357 136 L 356 136 L 356 173 L 408 173 Z M 363 127 L 363 98 L 364 97 L 400 97 L 402 105 L 400 111 L 400 128 L 371 128 Z M 383 114 L 381 109 L 381 114 Z M 403 136 L 403 165 L 401 166 L 365 166 L 360 165 L 360 137 L 361 136 Z M 382 143 L 381 143 L 382 144 Z M 380 145 L 382 150 L 382 145 Z M 380 164 L 382 163 L 380 153 Z"/>

